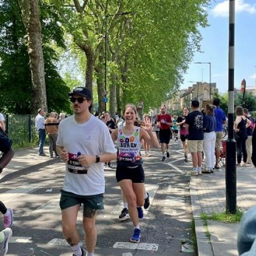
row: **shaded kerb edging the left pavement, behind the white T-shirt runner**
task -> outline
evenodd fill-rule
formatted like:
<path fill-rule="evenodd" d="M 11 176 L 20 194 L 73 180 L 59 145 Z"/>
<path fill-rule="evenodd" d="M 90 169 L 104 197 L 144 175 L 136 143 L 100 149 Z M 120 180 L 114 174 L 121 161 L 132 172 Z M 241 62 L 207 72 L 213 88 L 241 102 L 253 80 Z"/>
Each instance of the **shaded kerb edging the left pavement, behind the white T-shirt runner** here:
<path fill-rule="evenodd" d="M 0 183 L 13 179 L 17 176 L 29 174 L 29 172 L 32 172 L 37 169 L 44 168 L 48 165 L 53 165 L 54 163 L 59 163 L 59 162 L 60 162 L 60 158 L 50 158 L 49 160 L 46 160 L 43 163 L 38 163 L 37 165 L 31 165 L 31 166 L 19 169 L 17 171 L 10 172 L 9 174 L 6 174 L 4 177 L 2 177 L 2 179 L 0 179 Z"/>

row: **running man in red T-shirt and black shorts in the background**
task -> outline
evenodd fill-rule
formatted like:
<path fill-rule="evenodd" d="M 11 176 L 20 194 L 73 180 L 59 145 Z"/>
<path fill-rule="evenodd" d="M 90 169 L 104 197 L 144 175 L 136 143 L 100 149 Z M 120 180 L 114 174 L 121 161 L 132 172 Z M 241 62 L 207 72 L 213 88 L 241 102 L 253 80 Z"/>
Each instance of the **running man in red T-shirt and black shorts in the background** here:
<path fill-rule="evenodd" d="M 161 107 L 161 113 L 157 116 L 157 126 L 160 127 L 159 140 L 161 143 L 161 151 L 163 153 L 162 161 L 165 161 L 165 151 L 166 157 L 169 157 L 169 141 L 171 138 L 171 115 L 166 113 L 166 108 Z"/>

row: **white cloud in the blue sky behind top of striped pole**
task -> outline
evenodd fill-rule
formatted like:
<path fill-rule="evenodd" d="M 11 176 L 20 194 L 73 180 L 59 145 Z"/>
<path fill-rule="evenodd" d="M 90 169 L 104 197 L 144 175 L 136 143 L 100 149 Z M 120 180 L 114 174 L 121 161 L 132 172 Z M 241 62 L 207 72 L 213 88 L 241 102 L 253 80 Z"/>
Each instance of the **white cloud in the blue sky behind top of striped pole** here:
<path fill-rule="evenodd" d="M 235 11 L 236 12 L 247 12 L 254 14 L 256 13 L 256 4 L 248 4 L 244 2 L 244 0 L 236 0 L 235 1 Z M 217 4 L 212 13 L 214 16 L 222 16 L 227 17 L 229 16 L 229 1 L 225 0 Z"/>

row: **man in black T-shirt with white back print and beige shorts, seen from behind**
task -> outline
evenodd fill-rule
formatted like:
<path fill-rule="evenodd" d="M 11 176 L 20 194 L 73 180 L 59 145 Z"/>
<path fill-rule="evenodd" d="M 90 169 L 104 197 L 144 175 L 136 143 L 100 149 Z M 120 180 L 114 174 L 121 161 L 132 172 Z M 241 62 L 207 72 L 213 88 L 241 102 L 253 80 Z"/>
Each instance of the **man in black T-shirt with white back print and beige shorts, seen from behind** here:
<path fill-rule="evenodd" d="M 193 169 L 191 175 L 202 174 L 202 151 L 203 151 L 203 121 L 204 116 L 199 111 L 199 101 L 191 102 L 193 112 L 189 113 L 185 121 L 188 130 L 188 152 L 192 155 Z"/>

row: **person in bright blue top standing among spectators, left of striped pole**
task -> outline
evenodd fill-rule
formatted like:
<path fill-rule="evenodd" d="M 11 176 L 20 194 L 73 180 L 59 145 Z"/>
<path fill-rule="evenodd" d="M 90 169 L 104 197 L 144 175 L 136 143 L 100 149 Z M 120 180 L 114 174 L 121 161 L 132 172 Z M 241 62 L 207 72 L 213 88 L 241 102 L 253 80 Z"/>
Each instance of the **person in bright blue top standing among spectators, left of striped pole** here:
<path fill-rule="evenodd" d="M 214 108 L 214 115 L 216 118 L 216 143 L 215 143 L 215 155 L 216 155 L 216 162 L 215 162 L 215 168 L 219 169 L 219 155 L 221 155 L 221 141 L 223 138 L 223 124 L 226 123 L 226 115 L 224 110 L 222 110 L 219 107 L 220 104 L 219 98 L 216 98 L 213 100 L 213 105 L 215 106 Z"/>

